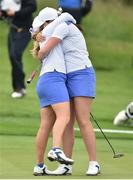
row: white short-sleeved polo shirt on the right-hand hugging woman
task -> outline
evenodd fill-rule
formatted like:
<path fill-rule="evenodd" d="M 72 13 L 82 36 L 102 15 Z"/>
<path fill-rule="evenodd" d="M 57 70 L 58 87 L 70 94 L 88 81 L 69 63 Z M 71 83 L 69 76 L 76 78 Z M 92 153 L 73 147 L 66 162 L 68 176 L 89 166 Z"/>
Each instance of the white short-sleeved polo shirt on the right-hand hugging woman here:
<path fill-rule="evenodd" d="M 62 40 L 67 73 L 92 66 L 85 39 L 74 24 L 64 22 L 58 25 L 52 37 Z"/>

